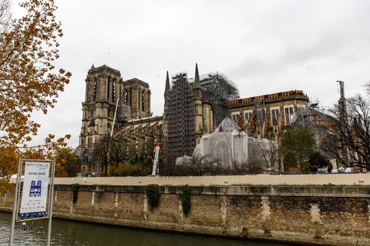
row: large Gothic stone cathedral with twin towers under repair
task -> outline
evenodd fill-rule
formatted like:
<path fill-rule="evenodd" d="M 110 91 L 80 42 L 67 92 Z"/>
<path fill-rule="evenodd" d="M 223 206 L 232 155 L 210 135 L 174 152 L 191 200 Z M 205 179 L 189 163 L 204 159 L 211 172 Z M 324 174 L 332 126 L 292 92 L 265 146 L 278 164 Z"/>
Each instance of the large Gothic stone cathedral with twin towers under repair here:
<path fill-rule="evenodd" d="M 210 134 L 225 117 L 254 138 L 273 139 L 288 129 L 308 107 L 302 91 L 285 91 L 240 98 L 238 86 L 214 72 L 187 77 L 180 72 L 164 82 L 164 115 L 152 117 L 149 84 L 123 80 L 121 72 L 106 65 L 92 67 L 85 79 L 82 126 L 76 155 L 80 173 L 99 175 L 104 164 L 92 157 L 104 135 L 128 143 L 126 156 L 152 160 L 154 145 L 161 142 L 166 162 L 192 155 L 204 134 Z"/>

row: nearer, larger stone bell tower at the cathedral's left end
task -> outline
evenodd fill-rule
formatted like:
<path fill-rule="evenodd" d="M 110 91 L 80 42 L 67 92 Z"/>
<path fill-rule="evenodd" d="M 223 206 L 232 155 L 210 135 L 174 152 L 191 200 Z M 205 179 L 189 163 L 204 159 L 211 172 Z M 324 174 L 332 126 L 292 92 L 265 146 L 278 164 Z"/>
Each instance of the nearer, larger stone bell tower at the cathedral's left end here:
<path fill-rule="evenodd" d="M 116 103 L 123 102 L 123 79 L 121 72 L 102 65 L 92 67 L 87 72 L 85 102 L 82 103 L 82 127 L 80 148 L 94 148 L 94 144 L 111 127 L 118 130 L 118 123 L 113 125 Z"/>

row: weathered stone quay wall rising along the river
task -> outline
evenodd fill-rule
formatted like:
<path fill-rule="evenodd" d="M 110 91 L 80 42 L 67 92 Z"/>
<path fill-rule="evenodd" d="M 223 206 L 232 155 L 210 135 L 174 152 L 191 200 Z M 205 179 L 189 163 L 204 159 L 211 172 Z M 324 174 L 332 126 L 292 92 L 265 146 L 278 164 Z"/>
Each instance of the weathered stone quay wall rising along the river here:
<path fill-rule="evenodd" d="M 370 245 L 370 186 L 192 186 L 183 214 L 181 186 L 159 186 L 149 208 L 146 186 L 54 188 L 56 218 L 143 229 L 302 245 Z M 13 192 L 0 210 L 11 212 Z"/>

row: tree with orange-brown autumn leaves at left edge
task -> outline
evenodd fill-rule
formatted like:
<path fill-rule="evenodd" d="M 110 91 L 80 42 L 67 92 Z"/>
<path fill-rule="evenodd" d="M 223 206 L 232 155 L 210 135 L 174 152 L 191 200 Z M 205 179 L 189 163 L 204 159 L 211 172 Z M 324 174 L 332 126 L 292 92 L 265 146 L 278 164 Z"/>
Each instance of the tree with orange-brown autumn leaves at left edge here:
<path fill-rule="evenodd" d="M 54 140 L 49 135 L 42 148 L 17 148 L 27 145 L 40 127 L 31 119 L 32 112 L 46 114 L 53 108 L 71 76 L 54 66 L 59 57 L 57 39 L 63 35 L 54 1 L 27 0 L 20 7 L 25 15 L 11 19 L 10 1 L 0 0 L 0 190 L 15 173 L 18 157 L 30 151 L 49 157 L 70 137 Z"/>

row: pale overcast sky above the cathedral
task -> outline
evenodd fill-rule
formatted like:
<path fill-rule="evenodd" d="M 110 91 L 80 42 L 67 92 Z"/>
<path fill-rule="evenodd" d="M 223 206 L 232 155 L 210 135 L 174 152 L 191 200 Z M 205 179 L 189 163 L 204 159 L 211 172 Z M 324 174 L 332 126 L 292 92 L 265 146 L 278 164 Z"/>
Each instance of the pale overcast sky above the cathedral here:
<path fill-rule="evenodd" d="M 73 77 L 34 143 L 71 134 L 78 145 L 85 78 L 92 63 L 137 77 L 162 115 L 165 75 L 222 72 L 240 96 L 303 90 L 331 106 L 337 80 L 346 96 L 370 79 L 370 1 L 73 1 L 56 0 L 62 22 L 57 66 Z M 13 7 L 17 13 L 18 6 Z"/>

